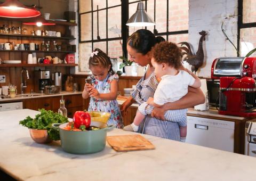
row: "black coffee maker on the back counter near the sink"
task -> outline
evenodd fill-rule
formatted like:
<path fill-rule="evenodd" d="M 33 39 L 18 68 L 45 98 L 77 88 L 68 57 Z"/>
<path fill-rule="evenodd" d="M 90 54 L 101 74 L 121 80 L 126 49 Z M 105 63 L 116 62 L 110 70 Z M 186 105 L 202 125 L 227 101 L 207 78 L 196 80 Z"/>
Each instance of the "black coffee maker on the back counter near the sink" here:
<path fill-rule="evenodd" d="M 50 71 L 38 70 L 35 71 L 35 92 L 43 93 L 45 86 L 51 86 Z"/>

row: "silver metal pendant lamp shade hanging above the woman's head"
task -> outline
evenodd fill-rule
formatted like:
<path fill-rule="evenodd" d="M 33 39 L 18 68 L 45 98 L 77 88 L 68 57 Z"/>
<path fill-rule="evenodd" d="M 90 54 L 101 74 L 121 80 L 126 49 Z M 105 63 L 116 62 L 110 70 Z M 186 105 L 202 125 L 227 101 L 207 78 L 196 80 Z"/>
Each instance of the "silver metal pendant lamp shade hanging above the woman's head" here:
<path fill-rule="evenodd" d="M 126 23 L 127 26 L 131 27 L 147 27 L 154 26 L 156 23 L 149 17 L 145 11 L 143 2 L 139 2 L 137 5 L 137 11 L 131 16 Z"/>

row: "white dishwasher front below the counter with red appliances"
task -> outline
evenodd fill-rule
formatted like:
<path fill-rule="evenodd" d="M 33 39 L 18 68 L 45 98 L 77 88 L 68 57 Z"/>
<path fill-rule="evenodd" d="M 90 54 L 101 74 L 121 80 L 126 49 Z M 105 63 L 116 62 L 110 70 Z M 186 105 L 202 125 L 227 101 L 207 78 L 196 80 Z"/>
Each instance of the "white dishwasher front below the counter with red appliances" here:
<path fill-rule="evenodd" d="M 186 143 L 234 152 L 235 122 L 187 116 Z"/>

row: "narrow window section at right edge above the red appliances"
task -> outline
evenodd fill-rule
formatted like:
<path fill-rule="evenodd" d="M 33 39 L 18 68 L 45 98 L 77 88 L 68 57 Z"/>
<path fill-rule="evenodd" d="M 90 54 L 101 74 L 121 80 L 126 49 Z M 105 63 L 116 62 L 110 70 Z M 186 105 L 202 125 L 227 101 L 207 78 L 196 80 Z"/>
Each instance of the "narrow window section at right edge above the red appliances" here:
<path fill-rule="evenodd" d="M 254 0 L 238 0 L 238 50 L 245 56 L 256 47 L 256 6 Z M 256 53 L 251 56 L 256 56 Z"/>

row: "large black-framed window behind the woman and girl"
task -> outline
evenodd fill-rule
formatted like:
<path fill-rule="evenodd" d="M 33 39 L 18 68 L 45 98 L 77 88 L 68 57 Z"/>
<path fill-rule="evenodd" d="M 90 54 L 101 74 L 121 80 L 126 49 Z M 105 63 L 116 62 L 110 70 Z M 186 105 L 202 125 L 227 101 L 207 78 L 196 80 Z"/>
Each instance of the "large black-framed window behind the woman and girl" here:
<path fill-rule="evenodd" d="M 117 58 L 116 68 L 119 70 L 122 60 L 118 57 L 123 54 L 121 43 L 126 44 L 129 35 L 145 28 L 122 29 L 136 11 L 138 2 L 140 1 L 79 0 L 79 71 L 90 71 L 88 60 L 91 51 L 96 47 L 107 52 L 111 58 Z M 162 36 L 175 43 L 188 41 L 188 0 L 143 2 L 146 11 L 156 22 L 155 27 L 146 27 L 147 29 L 156 36 Z M 126 50 L 124 54 L 127 55 Z"/>

